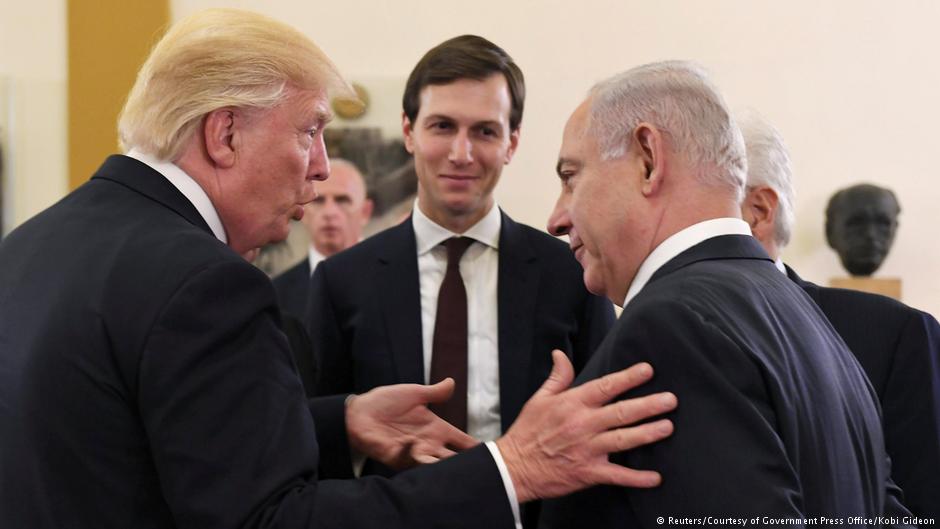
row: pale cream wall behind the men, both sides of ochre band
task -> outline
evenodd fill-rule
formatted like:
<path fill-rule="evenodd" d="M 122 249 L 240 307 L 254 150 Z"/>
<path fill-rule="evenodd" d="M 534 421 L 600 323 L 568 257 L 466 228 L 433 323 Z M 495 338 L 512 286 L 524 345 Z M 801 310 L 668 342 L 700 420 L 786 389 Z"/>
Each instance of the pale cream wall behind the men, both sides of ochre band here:
<path fill-rule="evenodd" d="M 41 108 L 38 117 L 18 121 L 36 131 L 30 156 L 17 160 L 17 174 L 34 179 L 17 180 L 25 186 L 17 189 L 22 220 L 65 186 L 64 7 L 49 0 L 25 7 L 2 1 L 10 7 L 0 18 L 0 74 L 13 65 L 47 86 L 47 103 L 23 107 Z M 940 183 L 932 160 L 940 136 L 934 130 L 940 123 L 936 2 L 616 0 L 574 9 L 558 0 L 172 0 L 171 11 L 179 18 L 214 5 L 297 25 L 352 80 L 403 78 L 424 51 L 459 33 L 504 46 L 525 71 L 529 95 L 521 148 L 497 196 L 513 216 L 538 227 L 557 191 L 552 171 L 561 129 L 591 84 L 643 62 L 697 60 L 732 106 L 760 110 L 790 143 L 799 194 L 787 261 L 817 282 L 842 275 L 822 234 L 826 200 L 859 181 L 891 187 L 904 211 L 879 275 L 901 277 L 905 301 L 940 314 L 940 243 L 933 235 Z M 11 10 L 12 18 L 6 16 Z M 14 22 L 17 17 L 24 23 Z M 26 92 L 35 100 L 43 90 Z"/>

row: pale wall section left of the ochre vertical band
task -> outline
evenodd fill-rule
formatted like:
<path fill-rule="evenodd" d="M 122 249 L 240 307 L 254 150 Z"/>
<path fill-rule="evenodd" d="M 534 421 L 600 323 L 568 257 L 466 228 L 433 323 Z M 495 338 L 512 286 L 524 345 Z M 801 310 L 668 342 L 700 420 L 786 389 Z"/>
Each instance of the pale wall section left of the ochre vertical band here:
<path fill-rule="evenodd" d="M 66 192 L 65 1 L 0 0 L 0 13 L 3 227 L 9 232 Z"/>

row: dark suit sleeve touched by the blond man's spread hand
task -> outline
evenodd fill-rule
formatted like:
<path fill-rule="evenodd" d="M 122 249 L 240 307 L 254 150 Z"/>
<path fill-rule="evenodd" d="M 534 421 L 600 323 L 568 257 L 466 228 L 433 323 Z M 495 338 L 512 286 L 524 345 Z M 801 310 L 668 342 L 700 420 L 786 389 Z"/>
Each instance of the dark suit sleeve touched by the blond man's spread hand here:
<path fill-rule="evenodd" d="M 594 378 L 639 361 L 654 379 L 626 398 L 672 391 L 676 411 L 666 415 L 675 434 L 650 446 L 611 456 L 629 468 L 656 470 L 654 489 L 601 486 L 543 504 L 541 527 L 672 525 L 659 517 L 704 515 L 803 518 L 800 483 L 765 410 L 762 376 L 739 347 L 681 304 L 636 311 L 615 327 L 612 350 L 579 377 Z M 746 454 L 746 455 L 745 455 Z M 625 525 L 626 524 L 626 525 Z M 792 527 L 792 526 L 791 526 Z"/>

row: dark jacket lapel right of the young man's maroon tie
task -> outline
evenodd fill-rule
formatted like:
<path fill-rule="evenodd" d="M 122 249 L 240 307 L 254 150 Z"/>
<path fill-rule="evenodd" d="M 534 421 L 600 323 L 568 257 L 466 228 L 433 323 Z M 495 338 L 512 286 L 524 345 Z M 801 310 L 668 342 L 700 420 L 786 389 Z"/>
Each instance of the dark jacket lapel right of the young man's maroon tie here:
<path fill-rule="evenodd" d="M 524 230 L 502 213 L 499 232 L 499 398 L 502 427 L 519 415 L 529 396 L 526 380 L 532 361 L 532 337 L 539 272 L 532 244 Z"/>

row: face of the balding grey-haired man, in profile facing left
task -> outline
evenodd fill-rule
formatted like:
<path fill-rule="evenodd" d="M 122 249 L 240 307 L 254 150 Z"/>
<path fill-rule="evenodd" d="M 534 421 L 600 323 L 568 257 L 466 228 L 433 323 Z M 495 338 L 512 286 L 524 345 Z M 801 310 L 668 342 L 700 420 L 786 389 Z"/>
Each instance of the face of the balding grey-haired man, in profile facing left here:
<path fill-rule="evenodd" d="M 597 142 L 586 131 L 588 111 L 586 101 L 565 126 L 557 166 L 561 195 L 548 231 L 568 234 L 587 289 L 621 304 L 649 253 L 642 243 L 642 163 L 629 153 L 601 160 Z"/>

